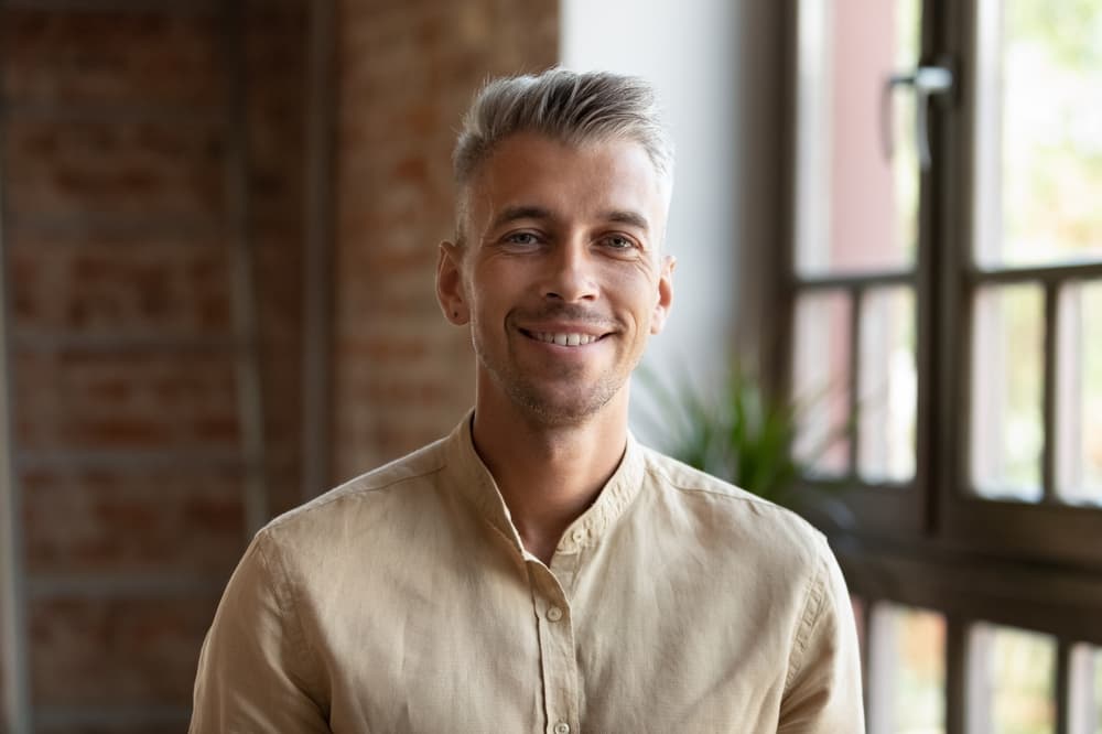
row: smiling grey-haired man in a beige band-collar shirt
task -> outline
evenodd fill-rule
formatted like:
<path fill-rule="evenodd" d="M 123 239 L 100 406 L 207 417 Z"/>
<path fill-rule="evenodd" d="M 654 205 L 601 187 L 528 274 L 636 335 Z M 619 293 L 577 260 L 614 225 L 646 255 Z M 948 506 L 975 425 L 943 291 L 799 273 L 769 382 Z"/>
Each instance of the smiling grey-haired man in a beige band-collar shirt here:
<path fill-rule="evenodd" d="M 627 431 L 672 300 L 650 90 L 491 83 L 454 164 L 436 291 L 471 330 L 474 411 L 257 535 L 192 731 L 863 731 L 824 539 Z"/>

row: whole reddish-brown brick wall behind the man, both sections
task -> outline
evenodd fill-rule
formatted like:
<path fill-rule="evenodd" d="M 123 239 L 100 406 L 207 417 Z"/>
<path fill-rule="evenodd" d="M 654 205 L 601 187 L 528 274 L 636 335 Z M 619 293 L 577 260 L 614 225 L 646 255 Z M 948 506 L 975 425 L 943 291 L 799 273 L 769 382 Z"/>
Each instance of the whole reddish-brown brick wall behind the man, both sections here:
<path fill-rule="evenodd" d="M 36 731 L 181 731 L 251 532 L 242 241 L 263 517 L 302 499 L 307 0 L 240 25 L 226 2 L 35 4 L 0 4 L 0 234 Z M 336 6 L 334 479 L 471 404 L 432 285 L 454 130 L 486 76 L 552 64 L 558 28 L 552 0 Z"/>

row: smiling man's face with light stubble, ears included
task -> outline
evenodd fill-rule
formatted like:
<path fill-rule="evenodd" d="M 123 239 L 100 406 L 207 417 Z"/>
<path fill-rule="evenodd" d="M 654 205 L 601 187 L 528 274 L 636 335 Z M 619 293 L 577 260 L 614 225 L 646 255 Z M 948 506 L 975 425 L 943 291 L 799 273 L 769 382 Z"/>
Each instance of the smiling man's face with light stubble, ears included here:
<path fill-rule="evenodd" d="M 464 242 L 442 246 L 437 290 L 449 319 L 471 323 L 479 404 L 508 399 L 555 425 L 626 410 L 672 295 L 658 251 L 668 194 L 646 151 L 517 134 L 465 193 Z"/>

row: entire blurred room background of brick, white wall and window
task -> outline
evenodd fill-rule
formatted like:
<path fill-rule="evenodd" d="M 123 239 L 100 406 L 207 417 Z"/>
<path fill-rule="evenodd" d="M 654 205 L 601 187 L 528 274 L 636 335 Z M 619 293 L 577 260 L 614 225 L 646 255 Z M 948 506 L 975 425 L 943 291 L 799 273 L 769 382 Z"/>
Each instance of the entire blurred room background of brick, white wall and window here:
<path fill-rule="evenodd" d="M 184 731 L 252 533 L 467 410 L 451 148 L 553 64 L 662 98 L 633 427 L 829 535 L 869 732 L 1102 734 L 1092 0 L 0 1 L 0 731 Z"/>

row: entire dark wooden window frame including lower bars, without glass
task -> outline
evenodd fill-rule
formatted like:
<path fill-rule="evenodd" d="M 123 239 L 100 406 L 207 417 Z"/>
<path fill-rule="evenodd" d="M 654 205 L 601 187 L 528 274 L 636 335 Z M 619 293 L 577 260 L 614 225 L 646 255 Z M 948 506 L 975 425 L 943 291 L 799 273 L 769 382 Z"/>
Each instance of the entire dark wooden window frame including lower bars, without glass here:
<path fill-rule="evenodd" d="M 980 622 L 1056 638 L 1056 725 L 1057 731 L 1067 731 L 1073 715 L 1070 691 L 1077 680 L 1072 650 L 1081 643 L 1102 646 L 1102 508 L 1060 504 L 1052 497 L 1055 310 L 1059 300 L 1054 283 L 1082 276 L 1102 279 L 1102 265 L 981 270 L 973 263 L 976 109 L 968 73 L 976 57 L 975 2 L 923 0 L 921 61 L 950 60 L 955 85 L 950 99 L 930 102 L 934 165 L 921 175 L 919 247 L 914 277 L 908 280 L 914 283 L 917 319 L 915 476 L 901 486 L 862 484 L 854 476 L 836 482 L 855 518 L 852 528 L 832 523 L 811 503 L 801 509 L 828 533 L 851 591 L 863 602 L 863 639 L 868 639 L 867 623 L 882 602 L 946 615 L 947 734 L 968 728 L 969 701 L 975 695 L 970 692 L 970 629 Z M 785 6 L 786 139 L 781 152 L 787 185 L 779 211 L 786 224 L 784 252 L 774 262 L 771 310 L 780 335 L 779 347 L 766 353 L 770 359 L 766 374 L 777 376 L 774 388 L 789 395 L 798 296 L 828 285 L 853 294 L 887 280 L 875 273 L 814 280 L 797 276 L 799 0 Z M 1041 471 L 1046 496 L 1037 504 L 979 497 L 970 486 L 969 472 L 974 293 L 990 282 L 1029 279 L 1046 289 Z M 860 309 L 854 307 L 852 324 L 858 319 Z M 853 330 L 851 358 L 857 354 L 858 338 Z M 855 396 L 851 390 L 851 400 Z M 857 436 L 852 439 L 851 457 L 857 451 Z M 804 497 L 813 484 L 823 483 L 804 481 Z"/>

